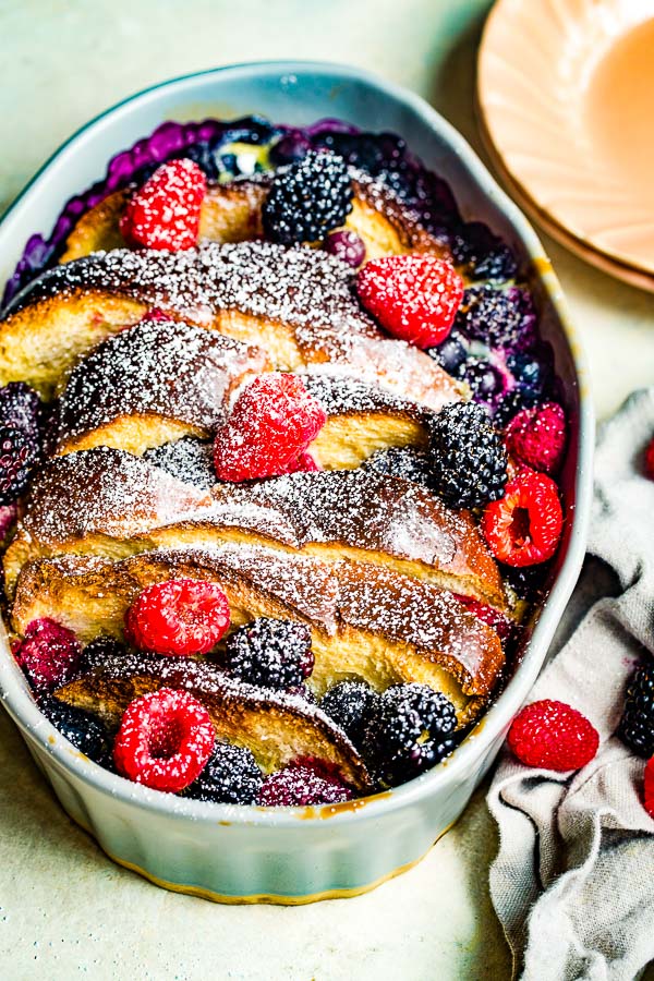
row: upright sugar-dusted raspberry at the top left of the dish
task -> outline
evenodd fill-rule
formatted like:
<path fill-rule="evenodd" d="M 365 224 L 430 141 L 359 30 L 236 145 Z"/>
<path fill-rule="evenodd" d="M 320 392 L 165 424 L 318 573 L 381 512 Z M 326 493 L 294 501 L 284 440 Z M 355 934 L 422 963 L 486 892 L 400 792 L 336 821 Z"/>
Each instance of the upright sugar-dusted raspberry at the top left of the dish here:
<path fill-rule="evenodd" d="M 128 203 L 120 221 L 124 239 L 137 249 L 193 249 L 206 190 L 193 160 L 164 164 Z"/>

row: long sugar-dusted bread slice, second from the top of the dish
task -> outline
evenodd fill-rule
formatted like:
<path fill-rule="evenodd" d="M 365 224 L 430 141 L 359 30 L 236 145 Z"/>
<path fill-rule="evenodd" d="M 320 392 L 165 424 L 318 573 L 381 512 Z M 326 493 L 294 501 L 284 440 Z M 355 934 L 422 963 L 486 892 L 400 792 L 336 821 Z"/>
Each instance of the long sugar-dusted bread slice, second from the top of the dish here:
<path fill-rule="evenodd" d="M 268 242 L 116 250 L 46 272 L 0 322 L 0 384 L 25 380 L 49 398 L 81 354 L 153 307 L 262 347 L 283 371 L 331 362 L 432 409 L 465 393 L 423 351 L 383 336 L 344 264 Z"/>

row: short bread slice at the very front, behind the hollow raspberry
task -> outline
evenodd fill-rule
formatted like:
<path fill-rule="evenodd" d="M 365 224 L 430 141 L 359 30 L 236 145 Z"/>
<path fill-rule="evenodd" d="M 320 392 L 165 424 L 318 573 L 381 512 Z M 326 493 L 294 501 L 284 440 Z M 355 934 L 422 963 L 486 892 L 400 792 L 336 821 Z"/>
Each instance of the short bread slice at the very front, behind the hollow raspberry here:
<path fill-rule="evenodd" d="M 220 741 L 250 749 L 265 773 L 298 756 L 336 766 L 349 786 L 364 792 L 371 779 L 346 734 L 317 706 L 298 695 L 244 685 L 216 665 L 189 657 L 128 654 L 59 688 L 55 697 L 117 726 L 130 702 L 158 688 L 190 692 L 207 708 Z"/>

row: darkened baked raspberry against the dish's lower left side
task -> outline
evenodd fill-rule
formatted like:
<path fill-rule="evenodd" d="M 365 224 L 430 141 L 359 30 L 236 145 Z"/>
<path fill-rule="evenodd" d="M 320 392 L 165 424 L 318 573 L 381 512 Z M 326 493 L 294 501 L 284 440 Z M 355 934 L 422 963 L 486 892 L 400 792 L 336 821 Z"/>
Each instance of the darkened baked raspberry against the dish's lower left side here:
<path fill-rule="evenodd" d="M 28 623 L 14 656 L 34 691 L 44 694 L 71 680 L 81 655 L 73 631 L 44 617 Z"/>

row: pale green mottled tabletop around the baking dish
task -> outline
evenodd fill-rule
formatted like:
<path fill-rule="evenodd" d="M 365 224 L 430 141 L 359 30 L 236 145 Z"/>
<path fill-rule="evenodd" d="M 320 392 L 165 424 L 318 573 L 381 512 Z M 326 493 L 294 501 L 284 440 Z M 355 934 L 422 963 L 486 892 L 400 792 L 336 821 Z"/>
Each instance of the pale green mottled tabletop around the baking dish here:
<path fill-rule="evenodd" d="M 0 208 L 62 140 L 118 99 L 169 76 L 256 58 L 323 58 L 378 71 L 429 98 L 476 143 L 472 22 L 486 7 L 0 0 Z M 606 414 L 654 379 L 654 298 L 558 246 L 550 254 Z M 501 981 L 508 954 L 486 885 L 495 849 L 480 795 L 424 862 L 358 899 L 280 909 L 171 895 L 109 862 L 71 825 L 0 715 L 0 974 L 8 981 Z"/>

